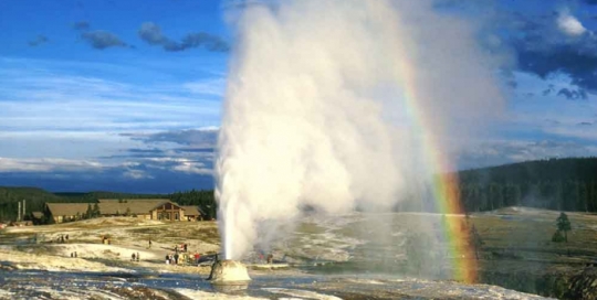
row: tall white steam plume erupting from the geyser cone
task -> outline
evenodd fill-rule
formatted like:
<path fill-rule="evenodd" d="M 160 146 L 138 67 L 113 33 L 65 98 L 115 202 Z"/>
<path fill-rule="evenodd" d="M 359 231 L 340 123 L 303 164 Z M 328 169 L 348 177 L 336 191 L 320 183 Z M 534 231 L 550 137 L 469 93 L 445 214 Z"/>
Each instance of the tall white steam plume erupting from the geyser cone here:
<path fill-rule="evenodd" d="M 305 206 L 391 207 L 446 171 L 426 152 L 499 110 L 475 32 L 430 1 L 289 0 L 244 6 L 233 23 L 217 162 L 228 259 Z"/>

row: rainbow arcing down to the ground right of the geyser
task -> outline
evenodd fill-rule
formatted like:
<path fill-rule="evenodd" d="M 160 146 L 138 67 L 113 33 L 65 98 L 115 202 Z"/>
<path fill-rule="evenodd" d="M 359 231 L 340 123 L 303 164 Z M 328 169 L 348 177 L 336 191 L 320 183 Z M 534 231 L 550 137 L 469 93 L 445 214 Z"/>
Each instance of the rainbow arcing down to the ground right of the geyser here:
<path fill-rule="evenodd" d="M 418 130 L 416 133 L 418 133 L 417 137 L 419 137 L 419 142 L 422 146 L 423 161 L 427 162 L 427 165 L 425 165 L 426 171 L 428 174 L 436 174 L 432 184 L 436 211 L 444 215 L 462 215 L 464 210 L 460 203 L 458 175 L 455 173 L 446 173 L 447 170 L 453 169 L 448 158 L 440 151 L 442 149 L 440 141 L 433 139 L 436 132 L 423 130 L 433 128 L 433 122 L 418 103 L 417 69 L 410 64 L 410 60 L 401 60 L 397 65 L 399 66 L 397 75 L 404 92 L 406 113 L 411 128 Z M 469 228 L 462 228 L 461 224 L 461 217 L 447 216 L 444 224 L 442 224 L 443 235 L 452 258 L 453 279 L 474 283 L 476 282 L 478 270 L 474 245 L 471 243 Z"/>

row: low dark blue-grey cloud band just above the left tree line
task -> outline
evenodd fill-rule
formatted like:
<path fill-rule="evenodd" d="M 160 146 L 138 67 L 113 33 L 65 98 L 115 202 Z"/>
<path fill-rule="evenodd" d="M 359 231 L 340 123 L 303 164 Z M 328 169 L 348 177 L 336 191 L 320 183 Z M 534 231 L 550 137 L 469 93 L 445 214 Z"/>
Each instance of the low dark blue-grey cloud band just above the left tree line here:
<path fill-rule="evenodd" d="M 3 185 L 35 185 L 50 191 L 172 193 L 212 189 L 211 168 L 180 160 L 104 164 L 55 159 L 0 159 Z"/>

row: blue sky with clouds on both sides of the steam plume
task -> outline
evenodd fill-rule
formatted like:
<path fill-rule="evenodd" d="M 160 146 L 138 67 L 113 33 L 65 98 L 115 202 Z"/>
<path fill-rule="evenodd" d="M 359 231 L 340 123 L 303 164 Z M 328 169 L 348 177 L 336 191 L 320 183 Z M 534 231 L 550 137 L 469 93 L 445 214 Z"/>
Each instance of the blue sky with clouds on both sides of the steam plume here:
<path fill-rule="evenodd" d="M 436 1 L 509 62 L 460 168 L 597 154 L 597 1 Z M 0 1 L 0 185 L 211 189 L 233 2 Z"/>

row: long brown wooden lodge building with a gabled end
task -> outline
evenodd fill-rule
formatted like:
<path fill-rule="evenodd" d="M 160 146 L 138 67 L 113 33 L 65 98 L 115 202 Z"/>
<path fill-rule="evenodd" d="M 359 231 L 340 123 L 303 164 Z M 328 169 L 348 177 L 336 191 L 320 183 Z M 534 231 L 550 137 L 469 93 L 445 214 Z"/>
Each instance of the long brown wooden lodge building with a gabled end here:
<path fill-rule="evenodd" d="M 130 216 L 144 219 L 201 221 L 198 206 L 181 206 L 167 199 L 101 199 L 97 203 L 46 203 L 44 215 L 54 223 L 82 219 L 90 210 L 97 207 L 98 215 Z"/>

